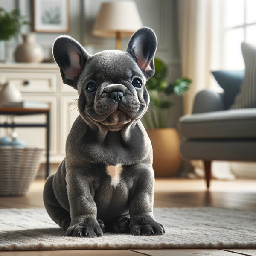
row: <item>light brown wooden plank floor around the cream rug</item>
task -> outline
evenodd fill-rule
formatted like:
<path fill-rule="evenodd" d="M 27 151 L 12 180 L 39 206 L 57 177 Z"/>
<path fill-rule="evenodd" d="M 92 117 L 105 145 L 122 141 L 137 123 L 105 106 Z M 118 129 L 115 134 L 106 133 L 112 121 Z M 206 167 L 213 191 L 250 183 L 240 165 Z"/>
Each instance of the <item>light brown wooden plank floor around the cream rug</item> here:
<path fill-rule="evenodd" d="M 44 180 L 36 180 L 25 197 L 0 197 L 0 209 L 44 207 Z M 204 180 L 157 179 L 154 207 L 222 207 L 256 211 L 256 180 L 213 180 L 206 191 Z M 256 249 L 227 250 L 69 250 L 0 252 L 0 256 L 256 256 Z"/>

